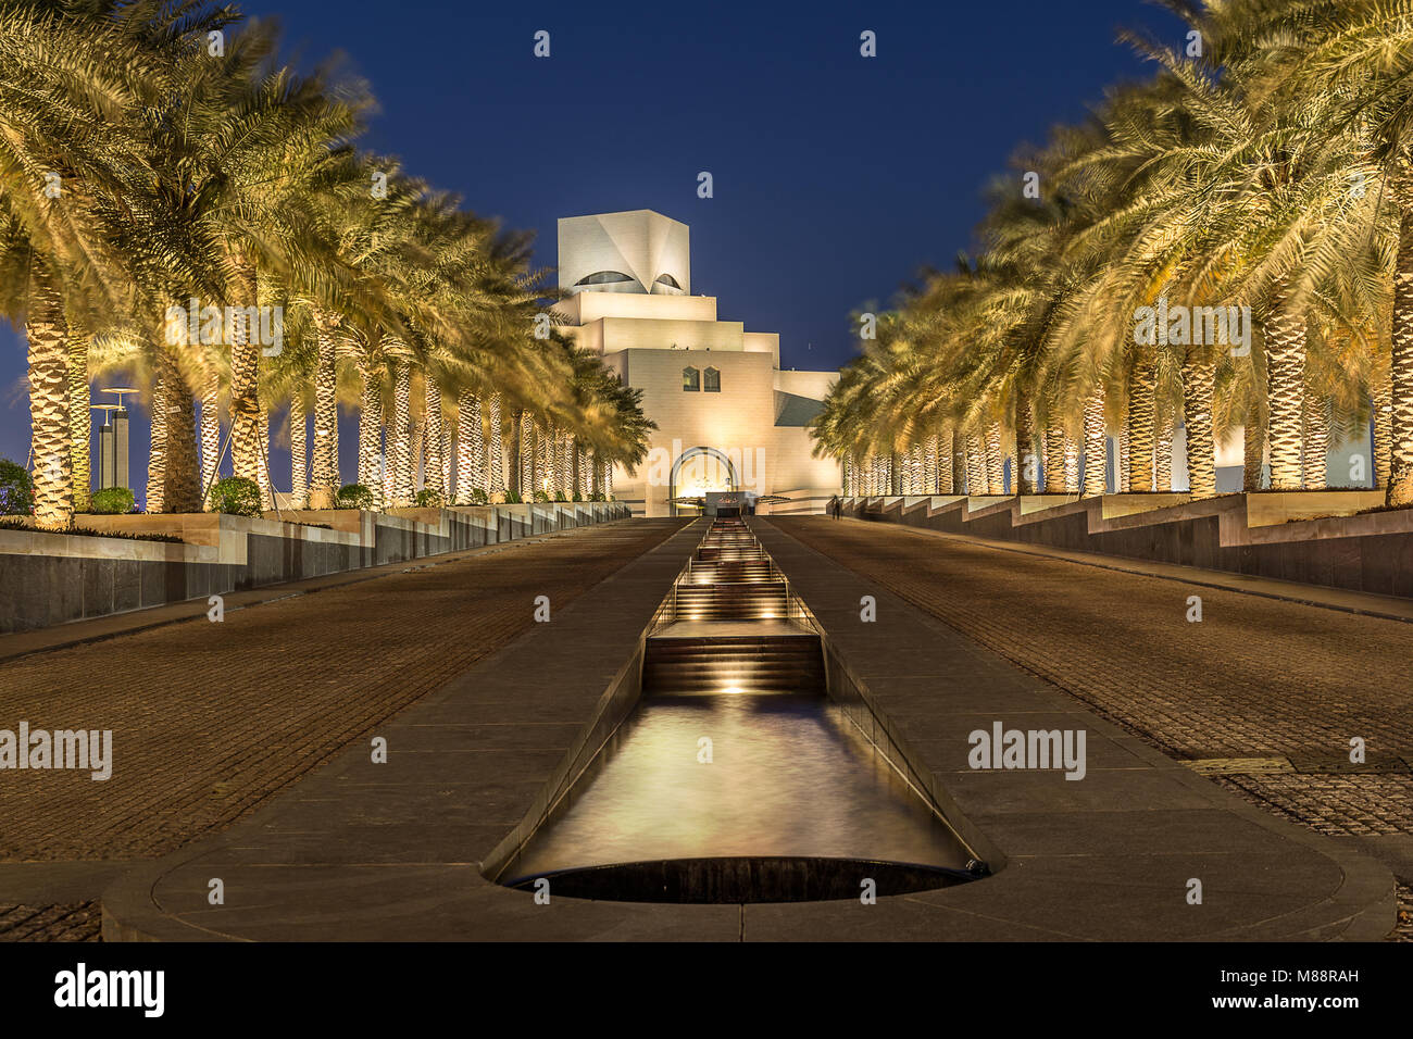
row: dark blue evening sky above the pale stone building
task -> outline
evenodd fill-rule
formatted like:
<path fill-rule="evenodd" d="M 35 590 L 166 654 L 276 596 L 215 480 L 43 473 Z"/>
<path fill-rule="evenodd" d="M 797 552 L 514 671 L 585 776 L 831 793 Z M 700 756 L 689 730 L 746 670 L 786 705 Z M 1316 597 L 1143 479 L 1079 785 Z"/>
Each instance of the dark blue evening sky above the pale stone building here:
<path fill-rule="evenodd" d="M 649 208 L 688 223 L 692 291 L 719 297 L 722 319 L 780 332 L 786 368 L 846 362 L 848 312 L 968 247 L 981 191 L 1020 141 L 1145 74 L 1118 27 L 1183 35 L 1139 0 L 243 7 L 278 17 L 304 64 L 345 52 L 382 103 L 366 144 L 536 229 L 543 266 L 560 216 Z M 531 54 L 541 28 L 548 59 Z M 715 198 L 697 198 L 702 170 Z M 0 455 L 20 461 L 24 369 L 4 328 Z M 144 420 L 133 471 L 141 491 Z"/>

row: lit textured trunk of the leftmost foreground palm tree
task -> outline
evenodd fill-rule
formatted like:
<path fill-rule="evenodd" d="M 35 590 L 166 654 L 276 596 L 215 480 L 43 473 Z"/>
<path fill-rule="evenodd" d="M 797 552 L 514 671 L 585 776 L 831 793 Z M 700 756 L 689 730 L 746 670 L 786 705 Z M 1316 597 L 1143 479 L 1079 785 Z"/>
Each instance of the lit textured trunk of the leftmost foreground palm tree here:
<path fill-rule="evenodd" d="M 73 522 L 73 451 L 64 301 L 44 260 L 30 263 L 24 334 L 30 359 L 30 445 L 34 455 L 34 520 L 45 530 Z"/>

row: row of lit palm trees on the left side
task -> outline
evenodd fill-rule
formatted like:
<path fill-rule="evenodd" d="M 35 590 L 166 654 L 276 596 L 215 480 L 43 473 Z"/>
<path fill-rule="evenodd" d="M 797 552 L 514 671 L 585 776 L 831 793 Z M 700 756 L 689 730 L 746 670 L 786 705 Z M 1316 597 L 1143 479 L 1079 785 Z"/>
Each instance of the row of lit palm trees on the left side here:
<path fill-rule="evenodd" d="M 329 506 L 341 401 L 380 505 L 606 495 L 642 461 L 637 396 L 537 322 L 530 237 L 359 150 L 372 109 L 230 4 L 0 0 L 0 307 L 27 339 L 40 526 L 86 507 L 102 372 L 147 393 L 148 512 L 201 509 L 226 458 L 274 505 L 284 411 L 292 499 Z"/>

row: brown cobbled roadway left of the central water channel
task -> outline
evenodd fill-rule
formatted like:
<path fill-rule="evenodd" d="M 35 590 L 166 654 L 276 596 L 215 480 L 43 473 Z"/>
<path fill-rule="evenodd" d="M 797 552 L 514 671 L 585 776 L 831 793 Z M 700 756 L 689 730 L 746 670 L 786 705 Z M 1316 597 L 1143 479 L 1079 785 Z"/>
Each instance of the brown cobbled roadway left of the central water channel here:
<path fill-rule="evenodd" d="M 0 728 L 112 729 L 114 762 L 106 782 L 3 773 L 0 939 L 66 936 L 64 919 L 112 879 L 109 862 L 230 826 L 513 640 L 533 625 L 536 597 L 562 609 L 681 526 L 619 522 L 387 567 L 222 623 L 187 604 L 201 619 L 7 662 Z M 34 862 L 65 865 L 21 865 Z"/>

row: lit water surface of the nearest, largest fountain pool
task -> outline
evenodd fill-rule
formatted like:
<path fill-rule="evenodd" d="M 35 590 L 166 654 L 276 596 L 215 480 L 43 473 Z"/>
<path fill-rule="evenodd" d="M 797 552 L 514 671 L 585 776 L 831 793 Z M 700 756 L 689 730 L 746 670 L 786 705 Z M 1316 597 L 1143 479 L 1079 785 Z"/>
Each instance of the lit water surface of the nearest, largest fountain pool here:
<path fill-rule="evenodd" d="M 722 855 L 969 858 L 818 694 L 647 695 L 575 789 L 509 875 Z"/>

